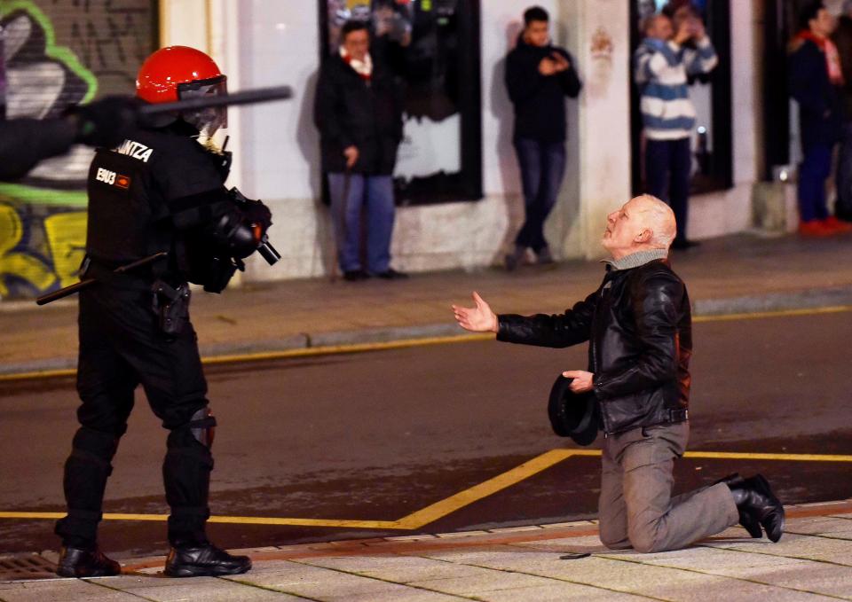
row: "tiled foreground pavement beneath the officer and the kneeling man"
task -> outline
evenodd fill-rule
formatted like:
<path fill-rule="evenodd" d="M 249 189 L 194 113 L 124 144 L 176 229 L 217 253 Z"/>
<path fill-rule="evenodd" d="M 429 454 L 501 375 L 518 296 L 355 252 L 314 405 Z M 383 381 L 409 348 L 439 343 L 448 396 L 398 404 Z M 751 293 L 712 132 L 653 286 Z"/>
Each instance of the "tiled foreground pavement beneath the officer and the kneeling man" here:
<path fill-rule="evenodd" d="M 608 551 L 594 522 L 243 551 L 227 578 L 168 579 L 162 558 L 126 575 L 0 583 L 6 602 L 45 600 L 852 600 L 852 500 L 787 506 L 779 543 L 742 528 L 687 550 Z M 590 553 L 564 559 L 571 553 Z"/>

